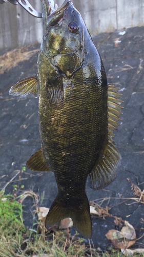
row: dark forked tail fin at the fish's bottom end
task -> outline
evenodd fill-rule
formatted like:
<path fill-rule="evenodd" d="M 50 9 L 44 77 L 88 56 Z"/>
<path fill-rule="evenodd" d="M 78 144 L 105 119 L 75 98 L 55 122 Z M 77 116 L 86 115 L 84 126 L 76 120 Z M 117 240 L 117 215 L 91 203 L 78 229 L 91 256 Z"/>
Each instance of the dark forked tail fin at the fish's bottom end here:
<path fill-rule="evenodd" d="M 49 228 L 54 224 L 59 224 L 62 219 L 68 217 L 72 218 L 74 227 L 81 235 L 85 236 L 86 238 L 92 237 L 90 206 L 87 196 L 83 206 L 76 208 L 64 208 L 61 203 L 58 202 L 56 197 L 46 217 L 45 226 L 46 228 Z"/>

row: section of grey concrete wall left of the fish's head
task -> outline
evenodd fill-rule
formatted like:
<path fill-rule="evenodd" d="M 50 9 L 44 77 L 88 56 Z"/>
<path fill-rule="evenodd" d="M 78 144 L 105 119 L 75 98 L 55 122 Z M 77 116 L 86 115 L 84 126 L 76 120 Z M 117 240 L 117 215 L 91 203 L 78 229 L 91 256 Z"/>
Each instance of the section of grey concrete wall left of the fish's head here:
<path fill-rule="evenodd" d="M 29 2 L 37 11 L 42 11 L 40 0 Z M 19 4 L 12 5 L 7 1 L 0 5 L 0 49 L 40 43 L 43 37 L 42 20 L 30 15 Z"/>

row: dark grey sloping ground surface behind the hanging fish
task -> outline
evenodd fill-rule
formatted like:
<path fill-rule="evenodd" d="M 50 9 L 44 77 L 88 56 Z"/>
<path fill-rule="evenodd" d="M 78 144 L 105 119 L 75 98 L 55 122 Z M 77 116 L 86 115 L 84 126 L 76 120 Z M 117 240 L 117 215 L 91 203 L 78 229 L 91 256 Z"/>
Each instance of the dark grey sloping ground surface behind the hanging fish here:
<path fill-rule="evenodd" d="M 97 203 L 100 203 L 99 198 L 111 197 L 105 200 L 102 206 L 113 207 L 110 213 L 129 221 L 136 229 L 138 238 L 143 233 L 141 228 L 144 229 L 142 221 L 144 207 L 140 203 L 134 203 L 133 200 L 120 204 L 124 201 L 120 197 L 133 197 L 128 177 L 141 190 L 144 188 L 144 27 L 127 29 L 124 35 L 119 35 L 119 32 L 116 30 L 113 33 L 101 33 L 94 36 L 93 40 L 104 61 L 108 82 L 118 85 L 120 93 L 123 94 L 121 100 L 124 101 L 124 114 L 121 116 L 119 132 L 115 133 L 115 142 L 122 155 L 122 166 L 117 178 L 109 187 L 95 192 L 87 184 L 86 192 L 89 200 L 97 199 Z M 4 66 L 0 69 L 1 189 L 14 176 L 14 171 L 26 166 L 26 161 L 40 147 L 37 99 L 32 96 L 14 98 L 9 95 L 10 87 L 18 80 L 36 73 L 38 49 L 39 45 L 23 49 L 22 53 L 19 53 L 19 58 L 25 53 L 27 56 L 25 61 L 20 58 L 15 67 L 12 64 L 9 70 Z M 28 52 L 31 52 L 30 58 L 29 54 L 26 54 Z M 0 63 L 6 65 L 8 57 L 4 56 L 4 53 L 4 51 L 0 52 Z M 6 176 L 3 177 L 4 175 Z M 32 189 L 39 195 L 45 191 L 43 206 L 51 206 L 57 193 L 53 173 L 35 173 L 26 168 L 26 173 L 22 176 L 24 180 L 17 182 L 17 179 L 18 177 L 6 189 L 6 193 L 12 192 L 13 185 L 19 183 L 19 188 L 20 185 L 24 185 L 25 190 Z M 24 213 L 25 225 L 31 227 L 32 199 L 28 198 L 25 205 L 27 211 Z M 106 217 L 105 220 L 93 218 L 92 240 L 95 246 L 102 249 L 108 247 L 110 241 L 105 234 L 115 228 L 112 218 Z M 74 233 L 73 228 L 71 231 Z M 144 247 L 144 239 L 141 238 L 137 244 Z"/>

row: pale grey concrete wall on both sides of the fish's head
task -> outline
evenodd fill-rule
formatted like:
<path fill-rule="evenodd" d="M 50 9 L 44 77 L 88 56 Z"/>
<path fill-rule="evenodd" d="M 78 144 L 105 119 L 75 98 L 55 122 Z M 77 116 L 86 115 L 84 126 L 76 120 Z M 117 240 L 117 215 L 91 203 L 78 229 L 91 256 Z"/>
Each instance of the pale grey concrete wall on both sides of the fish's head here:
<path fill-rule="evenodd" d="M 40 0 L 29 0 L 41 11 Z M 55 0 L 60 6 L 64 0 Z M 143 0 L 72 0 L 81 13 L 91 34 L 112 32 L 144 25 Z M 0 5 L 0 49 L 13 49 L 34 42 L 40 43 L 43 36 L 42 19 L 27 13 L 19 5 Z"/>

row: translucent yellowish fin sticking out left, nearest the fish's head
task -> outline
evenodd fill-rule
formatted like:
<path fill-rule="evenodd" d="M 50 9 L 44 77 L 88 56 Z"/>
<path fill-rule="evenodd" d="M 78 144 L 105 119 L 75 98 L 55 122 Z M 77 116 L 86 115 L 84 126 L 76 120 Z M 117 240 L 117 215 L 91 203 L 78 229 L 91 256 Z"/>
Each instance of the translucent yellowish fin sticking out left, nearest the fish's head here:
<path fill-rule="evenodd" d="M 14 86 L 11 87 L 10 95 L 20 96 L 20 97 L 33 95 L 34 97 L 38 97 L 38 86 L 37 86 L 36 75 L 18 81 Z"/>

